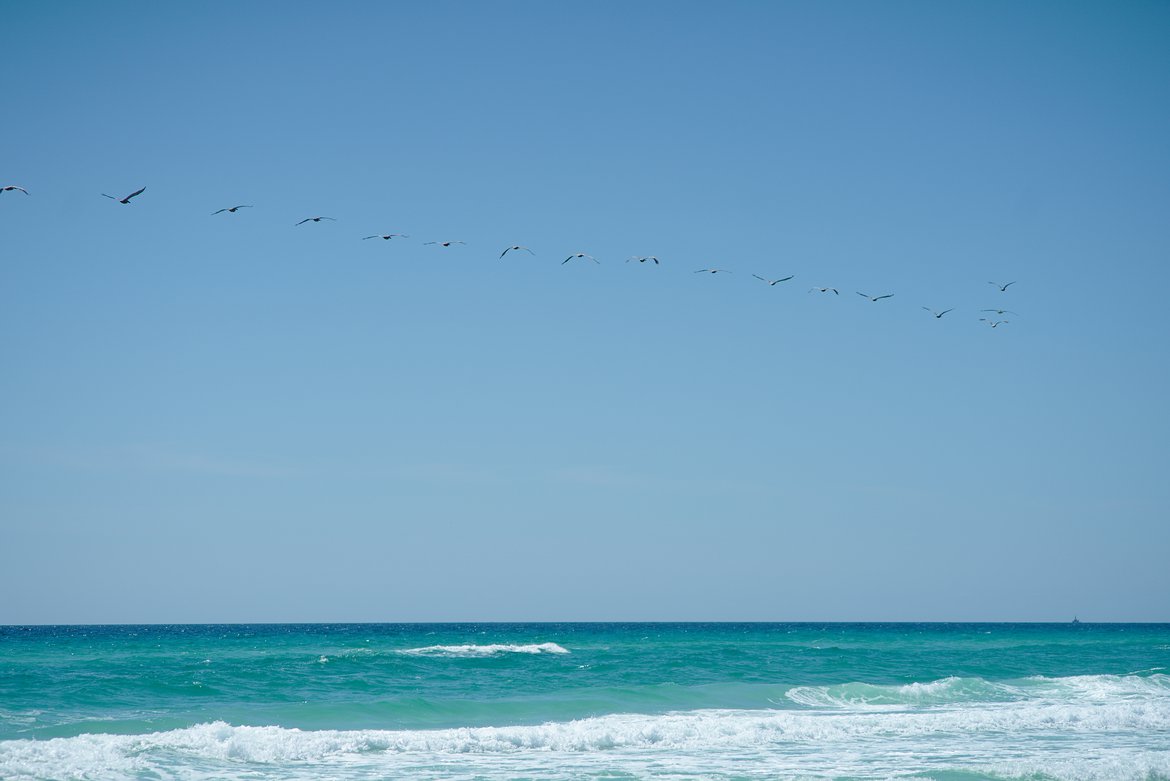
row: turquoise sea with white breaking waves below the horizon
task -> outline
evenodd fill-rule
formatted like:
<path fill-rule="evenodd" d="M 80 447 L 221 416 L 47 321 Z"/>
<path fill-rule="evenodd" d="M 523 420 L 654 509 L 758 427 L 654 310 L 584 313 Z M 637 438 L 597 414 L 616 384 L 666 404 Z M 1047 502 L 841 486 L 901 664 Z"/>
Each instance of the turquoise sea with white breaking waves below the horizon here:
<path fill-rule="evenodd" d="M 4 779 L 1170 779 L 1170 624 L 0 627 Z"/>

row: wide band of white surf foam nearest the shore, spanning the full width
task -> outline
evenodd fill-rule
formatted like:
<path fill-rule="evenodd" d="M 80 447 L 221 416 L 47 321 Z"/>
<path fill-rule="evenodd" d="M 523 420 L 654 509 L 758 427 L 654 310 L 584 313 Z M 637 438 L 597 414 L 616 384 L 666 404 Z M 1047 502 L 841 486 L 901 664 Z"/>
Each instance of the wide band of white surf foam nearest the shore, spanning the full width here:
<path fill-rule="evenodd" d="M 477 777 L 572 777 L 600 766 L 641 777 L 666 763 L 703 777 L 880 779 L 943 768 L 1019 776 L 1040 768 L 1046 777 L 1152 779 L 1170 777 L 1168 735 L 1165 698 L 897 712 L 707 710 L 455 730 L 304 732 L 213 723 L 145 735 L 4 741 L 0 777 L 443 777 L 443 768 L 449 777 L 457 761 Z"/>

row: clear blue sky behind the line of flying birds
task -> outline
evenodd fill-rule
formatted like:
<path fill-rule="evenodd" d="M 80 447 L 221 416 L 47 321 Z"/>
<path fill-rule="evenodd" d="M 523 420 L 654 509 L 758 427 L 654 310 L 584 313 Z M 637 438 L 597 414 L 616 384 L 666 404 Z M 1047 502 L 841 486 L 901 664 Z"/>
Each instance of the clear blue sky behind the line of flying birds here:
<path fill-rule="evenodd" d="M 1168 34 L 0 2 L 0 623 L 1170 620 Z"/>

